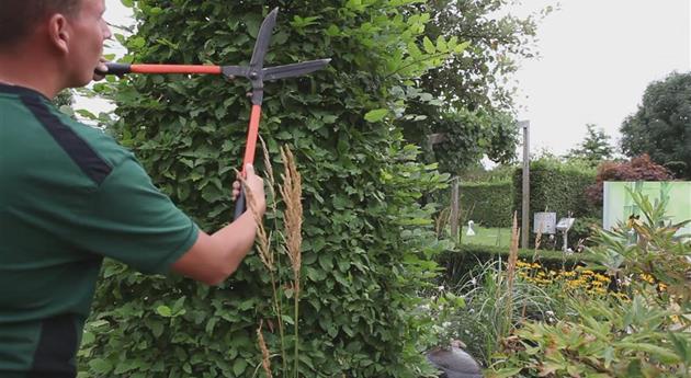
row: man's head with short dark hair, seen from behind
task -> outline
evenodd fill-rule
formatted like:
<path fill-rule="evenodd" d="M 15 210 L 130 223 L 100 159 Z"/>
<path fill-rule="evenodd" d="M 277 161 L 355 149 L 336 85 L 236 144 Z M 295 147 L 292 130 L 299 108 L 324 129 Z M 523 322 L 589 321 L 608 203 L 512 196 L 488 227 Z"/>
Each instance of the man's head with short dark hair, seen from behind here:
<path fill-rule="evenodd" d="M 65 87 L 84 85 L 111 37 L 104 11 L 103 0 L 0 0 L 0 54 L 37 53 Z"/>

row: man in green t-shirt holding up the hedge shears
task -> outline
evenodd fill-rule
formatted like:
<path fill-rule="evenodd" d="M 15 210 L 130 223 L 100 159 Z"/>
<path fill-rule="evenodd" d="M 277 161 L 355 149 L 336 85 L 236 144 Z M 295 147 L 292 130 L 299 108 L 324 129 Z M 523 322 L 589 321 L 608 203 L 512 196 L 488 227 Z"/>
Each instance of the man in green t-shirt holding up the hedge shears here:
<path fill-rule="evenodd" d="M 76 376 L 103 256 L 216 285 L 253 244 L 249 211 L 199 230 L 129 151 L 49 103 L 92 79 L 111 36 L 103 12 L 103 0 L 0 0 L 2 378 Z M 246 171 L 263 216 L 263 181 Z"/>

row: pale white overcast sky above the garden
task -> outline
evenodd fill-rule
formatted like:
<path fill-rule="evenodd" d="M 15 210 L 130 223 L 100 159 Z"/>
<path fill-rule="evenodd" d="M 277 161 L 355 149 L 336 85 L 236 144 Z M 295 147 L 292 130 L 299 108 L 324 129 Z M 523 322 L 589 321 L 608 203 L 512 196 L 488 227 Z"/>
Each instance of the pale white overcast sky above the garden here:
<path fill-rule="evenodd" d="M 131 23 L 120 0 L 105 3 L 109 22 Z M 584 140 L 587 124 L 616 144 L 650 82 L 691 70 L 689 0 L 522 0 L 508 11 L 525 15 L 546 5 L 558 10 L 537 28 L 541 57 L 522 61 L 514 77 L 531 153 L 566 153 Z M 94 100 L 79 105 L 107 110 Z"/>

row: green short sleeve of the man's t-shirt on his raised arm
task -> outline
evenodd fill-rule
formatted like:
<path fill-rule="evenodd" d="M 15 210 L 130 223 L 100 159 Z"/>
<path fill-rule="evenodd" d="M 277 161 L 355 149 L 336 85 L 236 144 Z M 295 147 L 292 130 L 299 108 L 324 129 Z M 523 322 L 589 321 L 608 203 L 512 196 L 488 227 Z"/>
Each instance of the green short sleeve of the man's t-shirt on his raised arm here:
<path fill-rule="evenodd" d="M 199 228 L 161 193 L 141 165 L 128 157 L 93 193 L 86 250 L 144 273 L 167 273 L 196 241 Z"/>

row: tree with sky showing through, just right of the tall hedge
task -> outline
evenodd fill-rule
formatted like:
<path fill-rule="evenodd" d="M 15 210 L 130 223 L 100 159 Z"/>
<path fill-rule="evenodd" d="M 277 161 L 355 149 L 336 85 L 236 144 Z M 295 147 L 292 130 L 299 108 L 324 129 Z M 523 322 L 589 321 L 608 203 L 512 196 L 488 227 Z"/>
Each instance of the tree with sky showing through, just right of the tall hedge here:
<path fill-rule="evenodd" d="M 510 4 L 513 1 L 434 0 L 420 5 L 431 14 L 424 31 L 430 41 L 455 36 L 472 46 L 422 77 L 427 98 L 409 110 L 422 121 L 403 124 L 406 138 L 421 146 L 428 135 L 449 135 L 445 145 L 429 154 L 446 172 L 477 164 L 484 154 L 496 162 L 514 158 L 518 130 L 509 79 L 518 60 L 535 56 L 537 16 L 498 15 Z"/>

